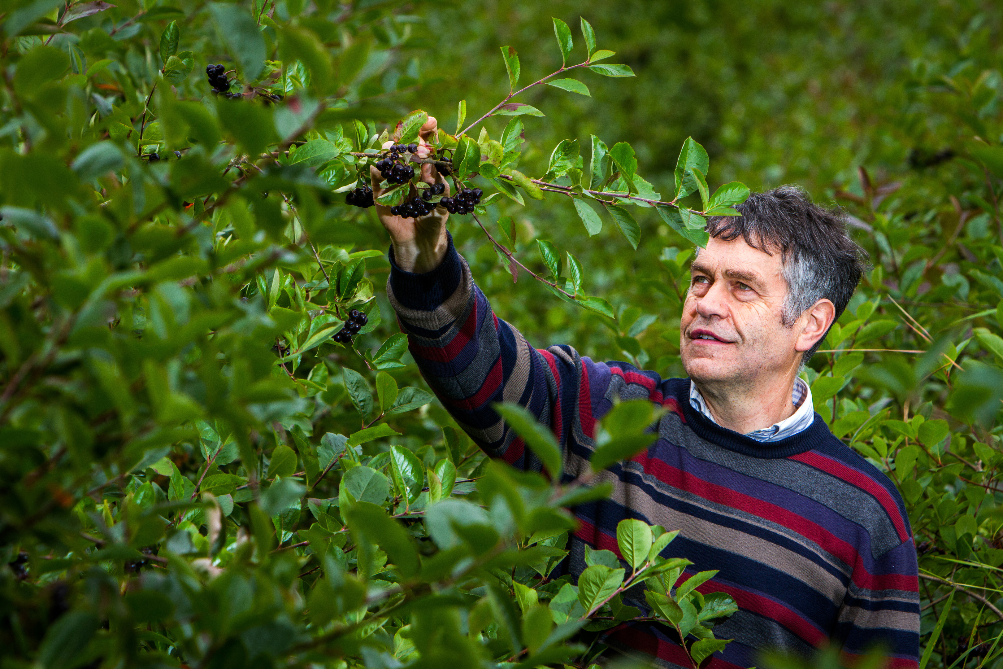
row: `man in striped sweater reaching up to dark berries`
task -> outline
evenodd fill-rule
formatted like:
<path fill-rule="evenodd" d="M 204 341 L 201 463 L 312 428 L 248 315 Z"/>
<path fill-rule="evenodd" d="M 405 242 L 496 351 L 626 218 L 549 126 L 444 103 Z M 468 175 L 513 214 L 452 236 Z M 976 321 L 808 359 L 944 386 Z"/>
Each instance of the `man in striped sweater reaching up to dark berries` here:
<path fill-rule="evenodd" d="M 430 118 L 422 136 L 434 131 Z M 422 177 L 436 179 L 430 165 Z M 378 182 L 374 173 L 377 195 Z M 831 643 L 850 661 L 882 646 L 892 666 L 915 667 L 917 560 L 902 499 L 832 436 L 797 376 L 856 290 L 864 253 L 837 213 L 797 189 L 753 195 L 738 210 L 710 219 L 710 242 L 692 263 L 680 327 L 689 379 L 662 380 L 568 346 L 534 349 L 492 314 L 442 208 L 414 221 L 377 207 L 392 242 L 387 293 L 411 353 L 487 453 L 541 466 L 490 408 L 497 401 L 551 426 L 571 476 L 587 466 L 596 420 L 614 401 L 645 397 L 668 409 L 647 451 L 600 474 L 614 484 L 611 498 L 574 510 L 573 575 L 586 545 L 616 552 L 617 524 L 640 518 L 680 530 L 663 555 L 719 570 L 701 592 L 738 603 L 714 630 L 734 641 L 710 666 L 753 666 L 765 649 L 810 657 Z M 690 666 L 658 624 L 625 626 L 607 643 Z"/>

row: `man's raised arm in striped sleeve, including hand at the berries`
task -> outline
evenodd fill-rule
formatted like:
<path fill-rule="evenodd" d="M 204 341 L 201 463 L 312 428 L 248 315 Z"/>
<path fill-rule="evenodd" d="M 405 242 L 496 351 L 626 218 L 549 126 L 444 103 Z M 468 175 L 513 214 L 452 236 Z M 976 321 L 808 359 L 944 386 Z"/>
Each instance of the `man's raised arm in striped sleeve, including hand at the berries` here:
<path fill-rule="evenodd" d="M 435 119 L 429 118 L 421 128 L 421 141 L 435 131 Z M 427 155 L 423 143 L 418 155 Z M 429 184 L 445 183 L 431 164 L 422 165 L 421 178 Z M 375 169 L 372 188 L 375 199 L 380 194 Z M 550 425 L 566 445 L 568 430 L 578 423 L 583 393 L 588 400 L 591 370 L 585 365 L 596 366 L 568 346 L 537 350 L 494 316 L 466 262 L 453 249 L 443 208 L 417 219 L 392 216 L 378 204 L 376 212 L 392 243 L 387 296 L 425 380 L 488 454 L 520 468 L 540 469 L 539 459 L 507 429 L 491 404 L 518 402 Z M 608 374 L 598 376 L 608 379 Z M 586 411 L 591 426 L 591 410 Z"/>

